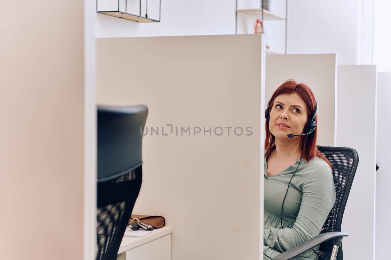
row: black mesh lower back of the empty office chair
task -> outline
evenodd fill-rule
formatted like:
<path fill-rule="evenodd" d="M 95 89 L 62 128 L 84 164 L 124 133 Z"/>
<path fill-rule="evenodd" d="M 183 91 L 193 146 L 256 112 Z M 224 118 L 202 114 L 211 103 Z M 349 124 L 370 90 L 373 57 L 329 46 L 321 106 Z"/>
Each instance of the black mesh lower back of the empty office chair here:
<path fill-rule="evenodd" d="M 97 186 L 96 260 L 115 260 L 140 192 L 142 166 Z"/>

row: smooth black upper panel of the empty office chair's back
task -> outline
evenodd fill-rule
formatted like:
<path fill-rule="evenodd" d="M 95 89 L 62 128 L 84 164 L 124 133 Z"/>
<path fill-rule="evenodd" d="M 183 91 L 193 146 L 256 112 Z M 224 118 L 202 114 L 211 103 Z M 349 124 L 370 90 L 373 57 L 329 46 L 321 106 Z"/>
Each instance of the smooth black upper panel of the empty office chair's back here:
<path fill-rule="evenodd" d="M 97 106 L 98 182 L 118 178 L 141 166 L 147 114 L 145 105 Z"/>

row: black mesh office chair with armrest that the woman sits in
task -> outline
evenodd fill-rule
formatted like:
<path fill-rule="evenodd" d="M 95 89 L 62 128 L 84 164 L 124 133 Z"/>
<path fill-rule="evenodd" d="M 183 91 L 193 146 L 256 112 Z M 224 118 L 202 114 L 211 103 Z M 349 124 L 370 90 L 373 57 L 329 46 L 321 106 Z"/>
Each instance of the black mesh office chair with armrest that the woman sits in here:
<path fill-rule="evenodd" d="M 341 223 L 353 178 L 359 164 L 359 155 L 353 148 L 330 146 L 318 146 L 318 148 L 333 166 L 335 193 L 337 195 L 334 207 L 328 214 L 319 235 L 275 256 L 273 260 L 291 259 L 319 244 L 318 260 L 343 260 L 342 238 L 348 236 L 348 233 L 341 232 Z"/>

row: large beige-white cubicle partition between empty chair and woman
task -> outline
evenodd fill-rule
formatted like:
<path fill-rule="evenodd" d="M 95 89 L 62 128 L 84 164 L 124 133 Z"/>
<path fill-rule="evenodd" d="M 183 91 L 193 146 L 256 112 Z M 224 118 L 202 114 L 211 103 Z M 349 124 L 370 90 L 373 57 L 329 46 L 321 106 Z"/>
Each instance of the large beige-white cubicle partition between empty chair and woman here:
<path fill-rule="evenodd" d="M 260 35 L 97 39 L 97 103 L 149 107 L 133 212 L 166 218 L 173 260 L 262 255 L 262 45 Z"/>

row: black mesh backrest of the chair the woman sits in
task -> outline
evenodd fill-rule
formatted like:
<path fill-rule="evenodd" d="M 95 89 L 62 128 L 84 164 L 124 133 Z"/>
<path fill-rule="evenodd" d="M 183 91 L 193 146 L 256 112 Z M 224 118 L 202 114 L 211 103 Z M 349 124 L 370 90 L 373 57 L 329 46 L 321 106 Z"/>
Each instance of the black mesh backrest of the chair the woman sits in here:
<path fill-rule="evenodd" d="M 342 217 L 350 188 L 359 163 L 359 155 L 353 148 L 317 146 L 330 161 L 334 176 L 336 199 L 321 233 L 341 231 Z M 332 241 L 321 244 L 318 260 L 330 260 Z M 338 249 L 337 260 L 343 260 L 342 245 Z"/>

